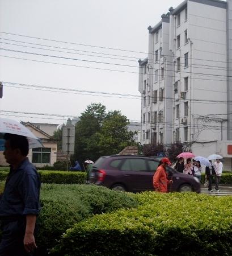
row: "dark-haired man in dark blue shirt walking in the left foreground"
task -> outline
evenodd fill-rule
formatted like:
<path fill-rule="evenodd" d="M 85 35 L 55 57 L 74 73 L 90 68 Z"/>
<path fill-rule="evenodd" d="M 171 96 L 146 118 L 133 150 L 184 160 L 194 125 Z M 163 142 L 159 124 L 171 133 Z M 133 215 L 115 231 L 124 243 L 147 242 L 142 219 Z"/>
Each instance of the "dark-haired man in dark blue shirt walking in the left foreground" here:
<path fill-rule="evenodd" d="M 34 231 L 40 211 L 40 178 L 27 158 L 27 138 L 5 134 L 4 139 L 3 154 L 10 164 L 10 172 L 0 201 L 0 255 L 33 255 L 37 247 Z"/>

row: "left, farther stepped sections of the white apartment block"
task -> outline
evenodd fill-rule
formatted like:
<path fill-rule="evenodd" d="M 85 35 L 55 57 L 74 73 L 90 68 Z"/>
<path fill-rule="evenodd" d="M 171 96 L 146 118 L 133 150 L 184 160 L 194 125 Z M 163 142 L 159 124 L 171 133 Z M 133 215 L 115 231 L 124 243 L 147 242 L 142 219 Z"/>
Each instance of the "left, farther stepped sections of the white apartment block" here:
<path fill-rule="evenodd" d="M 167 144 L 172 141 L 172 56 L 168 46 L 169 22 L 170 14 L 163 14 L 161 22 L 154 27 L 148 27 L 148 56 L 145 60 L 139 60 L 143 144 Z"/>

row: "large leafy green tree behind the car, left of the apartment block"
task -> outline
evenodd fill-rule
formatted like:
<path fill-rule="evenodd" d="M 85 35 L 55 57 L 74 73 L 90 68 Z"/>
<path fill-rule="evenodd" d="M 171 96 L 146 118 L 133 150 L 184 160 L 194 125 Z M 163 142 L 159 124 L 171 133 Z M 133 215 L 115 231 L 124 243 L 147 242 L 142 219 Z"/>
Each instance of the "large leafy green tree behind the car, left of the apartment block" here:
<path fill-rule="evenodd" d="M 129 120 L 115 110 L 106 113 L 102 104 L 91 104 L 81 114 L 75 126 L 75 160 L 96 160 L 100 156 L 117 154 L 133 144 Z"/>

